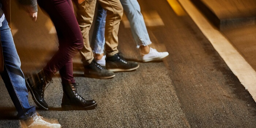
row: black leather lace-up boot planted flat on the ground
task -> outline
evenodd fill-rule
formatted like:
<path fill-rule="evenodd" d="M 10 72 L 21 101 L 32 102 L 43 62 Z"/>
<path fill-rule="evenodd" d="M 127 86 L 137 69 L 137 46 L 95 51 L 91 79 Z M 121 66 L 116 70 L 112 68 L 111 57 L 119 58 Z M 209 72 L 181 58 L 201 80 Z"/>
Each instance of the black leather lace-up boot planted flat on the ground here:
<path fill-rule="evenodd" d="M 63 97 L 61 108 L 64 110 L 91 110 L 97 107 L 97 102 L 94 100 L 84 100 L 76 92 L 78 83 L 62 83 Z"/>

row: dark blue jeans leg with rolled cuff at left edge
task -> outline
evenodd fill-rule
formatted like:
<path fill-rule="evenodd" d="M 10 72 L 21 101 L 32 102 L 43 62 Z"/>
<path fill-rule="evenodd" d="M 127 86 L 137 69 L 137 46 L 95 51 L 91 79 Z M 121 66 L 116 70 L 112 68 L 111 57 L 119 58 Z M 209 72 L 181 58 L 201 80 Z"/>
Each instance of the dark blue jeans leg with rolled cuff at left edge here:
<path fill-rule="evenodd" d="M 35 107 L 29 105 L 25 77 L 20 69 L 20 59 L 6 19 L 2 22 L 0 31 L 4 57 L 4 71 L 1 72 L 1 77 L 18 111 L 19 119 L 25 122 L 33 121 L 37 117 L 37 113 Z"/>

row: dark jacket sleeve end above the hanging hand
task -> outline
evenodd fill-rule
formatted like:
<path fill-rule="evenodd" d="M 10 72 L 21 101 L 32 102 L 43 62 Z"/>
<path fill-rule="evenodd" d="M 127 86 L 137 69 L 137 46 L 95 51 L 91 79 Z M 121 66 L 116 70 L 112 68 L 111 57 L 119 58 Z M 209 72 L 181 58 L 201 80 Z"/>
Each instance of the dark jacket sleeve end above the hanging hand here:
<path fill-rule="evenodd" d="M 37 0 L 19 0 L 26 12 L 37 12 Z"/>

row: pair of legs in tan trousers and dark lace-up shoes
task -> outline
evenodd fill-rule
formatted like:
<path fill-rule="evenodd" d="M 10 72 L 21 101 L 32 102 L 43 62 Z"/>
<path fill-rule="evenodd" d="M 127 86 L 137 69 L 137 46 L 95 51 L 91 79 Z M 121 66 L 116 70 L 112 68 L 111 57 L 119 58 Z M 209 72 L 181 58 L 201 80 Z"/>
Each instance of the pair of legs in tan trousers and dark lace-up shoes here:
<path fill-rule="evenodd" d="M 77 20 L 82 31 L 84 47 L 80 51 L 84 65 L 84 75 L 86 77 L 96 77 L 101 79 L 114 77 L 113 72 L 131 71 L 139 68 L 134 62 L 128 62 L 118 54 L 118 30 L 123 16 L 123 7 L 119 0 L 98 0 L 99 4 L 106 10 L 105 27 L 105 51 L 106 70 L 94 61 L 93 51 L 89 42 L 89 30 L 93 22 L 94 11 L 97 0 L 86 0 L 81 4 L 76 3 L 78 8 Z"/>

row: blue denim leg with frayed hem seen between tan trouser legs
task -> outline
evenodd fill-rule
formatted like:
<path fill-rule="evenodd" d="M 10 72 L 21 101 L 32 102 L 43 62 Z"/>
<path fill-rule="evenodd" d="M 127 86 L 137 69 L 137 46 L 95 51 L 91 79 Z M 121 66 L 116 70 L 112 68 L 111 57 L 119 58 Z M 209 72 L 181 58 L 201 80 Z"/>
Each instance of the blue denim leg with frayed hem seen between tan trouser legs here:
<path fill-rule="evenodd" d="M 93 52 L 96 54 L 102 54 L 104 52 L 106 16 L 107 11 L 99 5 L 94 29 L 96 35 L 95 40 L 93 41 Z"/>

